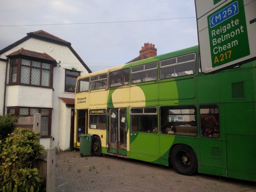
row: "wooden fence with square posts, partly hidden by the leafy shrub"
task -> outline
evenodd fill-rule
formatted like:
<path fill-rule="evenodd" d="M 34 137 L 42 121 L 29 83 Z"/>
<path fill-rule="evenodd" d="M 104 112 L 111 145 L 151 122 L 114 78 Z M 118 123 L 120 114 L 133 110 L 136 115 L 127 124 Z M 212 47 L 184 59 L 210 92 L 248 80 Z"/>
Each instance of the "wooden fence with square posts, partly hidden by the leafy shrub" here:
<path fill-rule="evenodd" d="M 41 114 L 35 113 L 34 116 L 19 117 L 15 128 L 25 128 L 30 131 L 39 132 L 41 130 Z M 38 141 L 40 142 L 40 141 Z M 34 162 L 34 168 L 37 168 L 39 175 L 44 180 L 47 192 L 54 192 L 55 187 L 55 149 L 47 149 L 47 153 Z"/>

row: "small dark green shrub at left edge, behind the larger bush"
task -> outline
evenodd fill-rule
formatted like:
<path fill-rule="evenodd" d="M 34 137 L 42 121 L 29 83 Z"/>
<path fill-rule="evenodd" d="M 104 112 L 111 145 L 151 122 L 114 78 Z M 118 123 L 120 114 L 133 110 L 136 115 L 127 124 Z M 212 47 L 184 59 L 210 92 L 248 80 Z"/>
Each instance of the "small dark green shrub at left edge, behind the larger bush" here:
<path fill-rule="evenodd" d="M 0 140 L 3 140 L 11 134 L 15 128 L 14 123 L 17 122 L 16 116 L 0 115 Z"/>

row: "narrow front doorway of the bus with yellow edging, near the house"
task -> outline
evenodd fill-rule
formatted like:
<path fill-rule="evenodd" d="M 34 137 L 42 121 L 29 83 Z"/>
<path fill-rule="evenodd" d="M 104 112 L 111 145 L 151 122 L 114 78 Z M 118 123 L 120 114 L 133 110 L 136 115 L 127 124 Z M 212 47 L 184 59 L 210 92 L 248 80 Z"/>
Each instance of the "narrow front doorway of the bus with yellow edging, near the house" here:
<path fill-rule="evenodd" d="M 87 134 L 87 109 L 77 110 L 77 126 L 76 126 L 76 146 L 80 146 L 80 137 L 81 134 Z"/>

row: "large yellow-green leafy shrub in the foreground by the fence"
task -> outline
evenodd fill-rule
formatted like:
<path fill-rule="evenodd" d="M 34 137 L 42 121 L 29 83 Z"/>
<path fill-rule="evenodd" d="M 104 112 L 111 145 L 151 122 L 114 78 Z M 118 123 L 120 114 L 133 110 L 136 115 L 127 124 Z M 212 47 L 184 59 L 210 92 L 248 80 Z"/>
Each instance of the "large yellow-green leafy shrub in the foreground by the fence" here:
<path fill-rule="evenodd" d="M 39 139 L 39 133 L 16 129 L 0 142 L 0 191 L 42 191 L 38 169 L 32 167 L 33 162 L 46 152 L 38 143 Z"/>

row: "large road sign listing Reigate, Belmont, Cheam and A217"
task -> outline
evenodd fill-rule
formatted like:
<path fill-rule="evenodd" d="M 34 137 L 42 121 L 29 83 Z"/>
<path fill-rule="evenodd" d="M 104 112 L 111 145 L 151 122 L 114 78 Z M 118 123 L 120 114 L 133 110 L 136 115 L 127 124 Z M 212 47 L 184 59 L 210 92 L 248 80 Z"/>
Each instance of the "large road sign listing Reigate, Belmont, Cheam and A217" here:
<path fill-rule="evenodd" d="M 195 0 L 203 73 L 256 59 L 256 0 Z"/>

